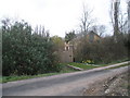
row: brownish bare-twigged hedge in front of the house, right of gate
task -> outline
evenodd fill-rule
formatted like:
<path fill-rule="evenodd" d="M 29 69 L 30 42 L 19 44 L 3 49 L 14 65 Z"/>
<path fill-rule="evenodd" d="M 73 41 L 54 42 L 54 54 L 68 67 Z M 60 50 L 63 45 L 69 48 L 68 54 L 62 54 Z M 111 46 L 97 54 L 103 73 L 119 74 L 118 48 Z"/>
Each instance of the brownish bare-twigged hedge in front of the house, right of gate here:
<path fill-rule="evenodd" d="M 128 37 L 128 35 L 127 35 Z M 83 37 L 80 39 L 75 50 L 76 61 L 81 62 L 92 60 L 95 63 L 110 63 L 113 61 L 123 60 L 128 58 L 128 48 L 123 34 L 117 42 L 114 41 L 113 36 L 104 37 L 101 41 L 89 42 Z"/>

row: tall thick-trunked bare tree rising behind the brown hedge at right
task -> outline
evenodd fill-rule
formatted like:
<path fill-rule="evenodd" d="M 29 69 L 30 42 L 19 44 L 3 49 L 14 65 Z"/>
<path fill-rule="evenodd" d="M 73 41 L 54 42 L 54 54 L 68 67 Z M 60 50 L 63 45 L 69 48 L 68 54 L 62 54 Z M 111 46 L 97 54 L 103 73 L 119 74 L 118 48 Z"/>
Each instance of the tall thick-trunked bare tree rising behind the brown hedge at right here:
<path fill-rule="evenodd" d="M 110 5 L 110 20 L 114 28 L 115 41 L 117 41 L 119 34 L 127 33 L 127 13 L 121 10 L 120 2 L 120 0 L 112 1 Z"/>

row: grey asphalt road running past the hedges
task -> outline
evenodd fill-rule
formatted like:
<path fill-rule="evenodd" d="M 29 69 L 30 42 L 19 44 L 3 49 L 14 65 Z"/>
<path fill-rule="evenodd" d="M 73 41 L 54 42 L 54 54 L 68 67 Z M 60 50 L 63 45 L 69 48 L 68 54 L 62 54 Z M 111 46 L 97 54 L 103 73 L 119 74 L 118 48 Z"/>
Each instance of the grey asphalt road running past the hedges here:
<path fill-rule="evenodd" d="M 2 96 L 81 96 L 81 91 L 95 82 L 128 71 L 128 66 L 80 71 L 48 77 L 9 82 L 2 85 Z"/>

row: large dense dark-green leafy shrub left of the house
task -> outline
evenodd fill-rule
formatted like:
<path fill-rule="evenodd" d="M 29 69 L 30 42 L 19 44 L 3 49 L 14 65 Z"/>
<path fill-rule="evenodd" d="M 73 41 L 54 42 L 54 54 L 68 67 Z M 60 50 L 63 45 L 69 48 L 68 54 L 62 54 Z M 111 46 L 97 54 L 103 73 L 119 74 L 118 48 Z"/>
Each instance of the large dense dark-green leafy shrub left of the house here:
<path fill-rule="evenodd" d="M 2 75 L 34 75 L 60 70 L 48 33 L 44 36 L 32 33 L 25 22 L 2 23 Z"/>

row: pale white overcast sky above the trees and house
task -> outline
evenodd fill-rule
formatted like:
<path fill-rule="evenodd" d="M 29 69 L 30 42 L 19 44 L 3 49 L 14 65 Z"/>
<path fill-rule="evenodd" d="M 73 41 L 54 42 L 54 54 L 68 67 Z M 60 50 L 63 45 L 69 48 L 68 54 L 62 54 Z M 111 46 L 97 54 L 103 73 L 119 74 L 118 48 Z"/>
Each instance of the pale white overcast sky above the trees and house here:
<path fill-rule="evenodd" d="M 35 27 L 44 25 L 51 35 L 65 36 L 65 32 L 78 29 L 82 4 L 93 9 L 96 24 L 109 25 L 110 0 L 0 0 L 0 19 L 25 20 Z M 125 1 L 125 0 L 123 0 Z M 126 3 L 121 2 L 126 9 Z"/>

